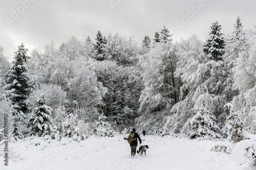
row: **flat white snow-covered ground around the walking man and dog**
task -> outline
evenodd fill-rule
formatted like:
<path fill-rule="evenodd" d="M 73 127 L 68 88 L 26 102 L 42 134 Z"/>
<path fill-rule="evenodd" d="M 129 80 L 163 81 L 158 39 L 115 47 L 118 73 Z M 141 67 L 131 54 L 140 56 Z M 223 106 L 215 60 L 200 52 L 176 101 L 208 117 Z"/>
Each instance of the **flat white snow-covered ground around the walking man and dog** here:
<path fill-rule="evenodd" d="M 116 137 L 95 137 L 80 142 L 65 138 L 62 141 L 26 139 L 15 143 L 15 150 L 26 159 L 22 163 L 9 161 L 5 170 L 100 170 L 100 169 L 172 169 L 172 170 L 252 170 L 242 164 L 238 156 L 223 152 L 211 152 L 216 141 L 188 140 L 172 136 L 146 135 L 142 144 L 149 149 L 141 157 L 131 158 L 129 143 L 122 135 Z M 50 141 L 50 143 L 49 143 Z M 223 142 L 222 142 L 223 143 Z M 12 145 L 10 143 L 10 145 Z M 138 148 L 137 148 L 138 149 Z M 237 153 L 239 154 L 239 153 Z M 243 157 L 243 155 L 241 156 Z"/>

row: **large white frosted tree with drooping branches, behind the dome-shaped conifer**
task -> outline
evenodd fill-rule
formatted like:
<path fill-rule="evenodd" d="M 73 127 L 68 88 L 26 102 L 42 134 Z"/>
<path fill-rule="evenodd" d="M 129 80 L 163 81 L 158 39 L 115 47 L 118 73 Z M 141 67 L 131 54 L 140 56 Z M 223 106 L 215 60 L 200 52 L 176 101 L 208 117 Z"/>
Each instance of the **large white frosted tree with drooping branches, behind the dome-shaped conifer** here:
<path fill-rule="evenodd" d="M 217 118 L 223 113 L 225 94 L 222 93 L 222 62 L 210 60 L 203 52 L 202 42 L 196 36 L 183 40 L 179 44 L 177 55 L 179 62 L 175 77 L 181 80 L 180 102 L 170 111 L 165 131 L 187 134 L 191 129 L 190 119 L 194 116 L 192 110 L 201 109 L 202 103 L 202 108 L 212 110 Z"/>

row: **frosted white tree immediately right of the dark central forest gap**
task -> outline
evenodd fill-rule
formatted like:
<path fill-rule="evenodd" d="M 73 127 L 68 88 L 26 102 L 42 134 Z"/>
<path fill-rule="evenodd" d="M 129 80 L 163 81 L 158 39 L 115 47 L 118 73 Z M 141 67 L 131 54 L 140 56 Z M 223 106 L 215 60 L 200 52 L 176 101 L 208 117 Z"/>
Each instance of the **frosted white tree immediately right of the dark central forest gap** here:
<path fill-rule="evenodd" d="M 174 71 L 177 62 L 175 45 L 157 43 L 143 56 L 139 56 L 144 89 L 140 95 L 140 110 L 166 108 L 178 99 Z M 161 110 L 161 109 L 160 109 Z"/>

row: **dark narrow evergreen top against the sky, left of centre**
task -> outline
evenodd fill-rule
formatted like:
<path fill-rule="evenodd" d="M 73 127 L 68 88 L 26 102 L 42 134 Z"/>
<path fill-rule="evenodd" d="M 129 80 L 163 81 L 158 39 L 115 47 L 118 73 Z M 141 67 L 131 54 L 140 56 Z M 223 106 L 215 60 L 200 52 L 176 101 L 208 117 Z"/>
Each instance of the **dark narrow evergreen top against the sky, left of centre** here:
<path fill-rule="evenodd" d="M 102 61 L 105 59 L 105 55 L 103 53 L 104 45 L 106 44 L 106 38 L 102 36 L 101 32 L 98 31 L 96 34 L 96 43 L 94 45 L 94 48 L 96 50 L 96 56 L 95 59 Z"/>

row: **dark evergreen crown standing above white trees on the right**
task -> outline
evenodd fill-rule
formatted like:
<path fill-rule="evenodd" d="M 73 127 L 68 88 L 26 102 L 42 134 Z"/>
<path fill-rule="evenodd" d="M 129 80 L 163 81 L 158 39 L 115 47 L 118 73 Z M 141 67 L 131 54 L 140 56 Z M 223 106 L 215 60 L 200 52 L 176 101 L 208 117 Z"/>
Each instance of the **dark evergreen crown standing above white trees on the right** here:
<path fill-rule="evenodd" d="M 221 26 L 219 22 L 216 21 L 212 23 L 209 32 L 209 38 L 204 44 L 204 52 L 210 57 L 212 60 L 218 61 L 222 60 L 222 55 L 224 54 L 224 37 L 220 32 Z"/>

